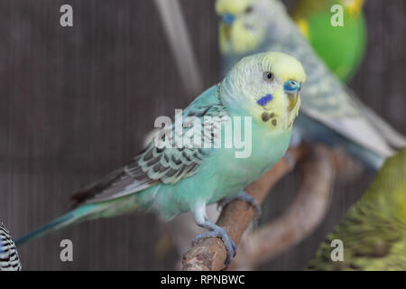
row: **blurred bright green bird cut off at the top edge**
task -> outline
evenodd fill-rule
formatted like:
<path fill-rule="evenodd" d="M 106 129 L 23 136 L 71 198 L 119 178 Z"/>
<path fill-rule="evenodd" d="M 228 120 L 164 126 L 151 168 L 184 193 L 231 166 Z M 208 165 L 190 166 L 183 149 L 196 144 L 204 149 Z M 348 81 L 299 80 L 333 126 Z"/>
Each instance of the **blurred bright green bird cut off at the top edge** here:
<path fill-rule="evenodd" d="M 331 25 L 342 7 L 343 26 Z M 366 23 L 364 0 L 299 0 L 291 13 L 300 32 L 338 79 L 353 77 L 364 58 Z"/>

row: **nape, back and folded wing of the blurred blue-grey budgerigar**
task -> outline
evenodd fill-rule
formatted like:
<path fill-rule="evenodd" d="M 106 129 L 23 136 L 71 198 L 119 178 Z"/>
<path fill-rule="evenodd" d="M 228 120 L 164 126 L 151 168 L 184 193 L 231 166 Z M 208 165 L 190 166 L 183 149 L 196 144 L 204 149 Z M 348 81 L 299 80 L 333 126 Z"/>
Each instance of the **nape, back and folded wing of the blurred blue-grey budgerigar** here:
<path fill-rule="evenodd" d="M 287 52 L 303 64 L 307 80 L 300 93 L 300 111 L 383 158 L 393 154 L 392 146 L 405 144 L 402 135 L 375 117 L 372 110 L 365 109 L 355 94 L 328 70 L 285 11 L 278 17 L 265 19 L 267 25 L 275 26 L 278 22 L 279 29 L 267 34 L 266 44 L 259 50 Z"/>

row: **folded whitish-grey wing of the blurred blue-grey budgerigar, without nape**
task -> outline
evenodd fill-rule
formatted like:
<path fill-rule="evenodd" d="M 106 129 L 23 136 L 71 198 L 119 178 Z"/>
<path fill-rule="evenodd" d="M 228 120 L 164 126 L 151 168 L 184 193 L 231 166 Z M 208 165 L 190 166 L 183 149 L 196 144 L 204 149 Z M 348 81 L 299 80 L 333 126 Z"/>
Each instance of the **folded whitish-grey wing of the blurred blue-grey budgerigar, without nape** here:
<path fill-rule="evenodd" d="M 395 152 L 391 141 L 380 129 L 382 124 L 390 126 L 382 119 L 377 121 L 380 126 L 376 126 L 377 122 L 368 117 L 365 106 L 355 97 L 354 92 L 333 76 L 308 42 L 300 38 L 300 44 L 291 49 L 295 51 L 292 54 L 302 61 L 308 74 L 301 93 L 302 113 L 383 158 L 391 156 Z"/>

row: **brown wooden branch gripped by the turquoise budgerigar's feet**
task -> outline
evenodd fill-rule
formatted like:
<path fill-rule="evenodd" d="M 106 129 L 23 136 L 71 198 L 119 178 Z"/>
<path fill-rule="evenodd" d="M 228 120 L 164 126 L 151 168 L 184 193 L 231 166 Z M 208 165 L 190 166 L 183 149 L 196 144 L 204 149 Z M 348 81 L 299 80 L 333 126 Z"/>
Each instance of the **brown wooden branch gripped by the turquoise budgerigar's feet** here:
<path fill-rule="evenodd" d="M 293 161 L 298 162 L 306 149 L 290 150 Z M 269 172 L 265 172 L 257 181 L 250 184 L 245 190 L 250 193 L 258 203 L 262 203 L 270 188 L 278 182 L 283 175 L 291 171 L 291 165 L 285 158 L 276 163 Z M 238 245 L 245 229 L 254 218 L 254 208 L 245 201 L 235 200 L 226 205 L 217 220 L 217 225 L 225 228 L 228 236 Z M 238 254 L 238 253 L 237 253 Z M 205 238 L 189 249 L 183 256 L 183 270 L 188 271 L 218 271 L 225 268 L 226 247 L 219 238 Z"/>

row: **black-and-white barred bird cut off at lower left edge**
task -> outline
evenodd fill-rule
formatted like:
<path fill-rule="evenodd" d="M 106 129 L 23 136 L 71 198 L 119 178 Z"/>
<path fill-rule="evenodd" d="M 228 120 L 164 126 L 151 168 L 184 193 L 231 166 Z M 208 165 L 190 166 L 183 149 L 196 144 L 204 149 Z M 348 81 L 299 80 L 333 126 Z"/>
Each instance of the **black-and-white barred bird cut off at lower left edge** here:
<path fill-rule="evenodd" d="M 0 222 L 0 271 L 21 271 L 14 241 L 2 222 Z"/>

